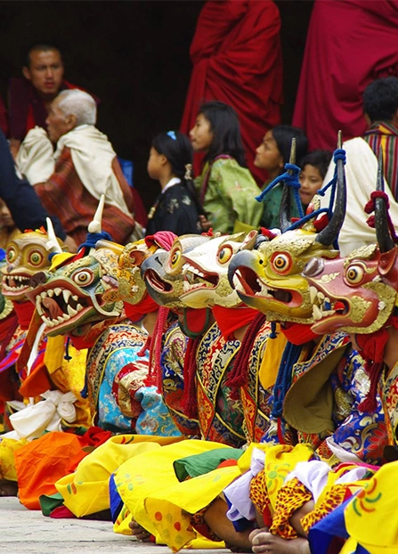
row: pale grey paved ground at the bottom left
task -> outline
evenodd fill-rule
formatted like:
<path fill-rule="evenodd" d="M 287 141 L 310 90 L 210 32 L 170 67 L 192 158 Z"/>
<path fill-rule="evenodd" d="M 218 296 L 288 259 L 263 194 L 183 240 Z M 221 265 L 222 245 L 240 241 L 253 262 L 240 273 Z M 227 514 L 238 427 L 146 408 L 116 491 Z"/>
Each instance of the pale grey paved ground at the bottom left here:
<path fill-rule="evenodd" d="M 0 552 L 10 554 L 170 554 L 164 546 L 148 545 L 112 531 L 109 521 L 52 519 L 29 511 L 17 498 L 0 498 Z M 226 554 L 228 550 L 186 550 L 190 554 Z"/>

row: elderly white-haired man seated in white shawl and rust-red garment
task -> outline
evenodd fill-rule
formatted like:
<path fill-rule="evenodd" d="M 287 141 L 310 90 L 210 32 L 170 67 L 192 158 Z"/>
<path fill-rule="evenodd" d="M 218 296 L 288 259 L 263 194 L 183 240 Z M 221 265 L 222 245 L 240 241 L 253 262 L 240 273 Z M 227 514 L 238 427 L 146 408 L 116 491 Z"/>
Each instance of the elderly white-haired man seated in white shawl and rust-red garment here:
<path fill-rule="evenodd" d="M 102 230 L 126 244 L 135 227 L 133 194 L 107 136 L 95 127 L 96 111 L 90 94 L 61 92 L 46 119 L 48 136 L 40 127 L 29 131 L 16 163 L 77 245 L 85 241 L 102 194 Z"/>

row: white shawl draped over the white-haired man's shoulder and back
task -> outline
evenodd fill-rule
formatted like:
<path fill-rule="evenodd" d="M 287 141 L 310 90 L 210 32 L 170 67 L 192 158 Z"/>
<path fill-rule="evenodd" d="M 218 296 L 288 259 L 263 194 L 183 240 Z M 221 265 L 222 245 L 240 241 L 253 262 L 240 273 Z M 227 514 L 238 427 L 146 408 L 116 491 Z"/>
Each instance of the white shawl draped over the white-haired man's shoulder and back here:
<path fill-rule="evenodd" d="M 54 153 L 55 161 L 60 158 L 65 147 L 70 149 L 77 175 L 87 191 L 97 200 L 104 194 L 107 204 L 131 215 L 112 170 L 112 161 L 116 153 L 106 134 L 93 125 L 75 127 L 69 133 L 62 134 Z"/>

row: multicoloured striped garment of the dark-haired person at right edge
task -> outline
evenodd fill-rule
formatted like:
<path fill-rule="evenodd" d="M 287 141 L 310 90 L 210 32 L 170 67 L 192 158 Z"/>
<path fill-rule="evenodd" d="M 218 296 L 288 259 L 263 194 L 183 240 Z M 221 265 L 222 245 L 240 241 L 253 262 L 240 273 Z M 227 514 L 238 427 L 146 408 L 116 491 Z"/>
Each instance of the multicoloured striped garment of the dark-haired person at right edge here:
<path fill-rule="evenodd" d="M 384 175 L 394 199 L 398 200 L 398 129 L 391 123 L 378 121 L 370 126 L 363 138 L 376 156 L 380 147 L 383 149 Z"/>

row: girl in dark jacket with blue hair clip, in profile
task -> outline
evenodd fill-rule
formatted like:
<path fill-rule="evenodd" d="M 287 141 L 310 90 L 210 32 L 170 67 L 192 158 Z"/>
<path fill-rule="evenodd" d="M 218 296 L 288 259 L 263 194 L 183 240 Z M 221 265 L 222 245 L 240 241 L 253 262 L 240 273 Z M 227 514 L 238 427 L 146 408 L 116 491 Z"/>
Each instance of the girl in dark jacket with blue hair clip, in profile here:
<path fill-rule="evenodd" d="M 192 147 L 179 131 L 158 134 L 152 142 L 148 174 L 160 183 L 161 193 L 150 208 L 146 234 L 172 231 L 199 233 L 199 202 L 191 182 Z"/>

